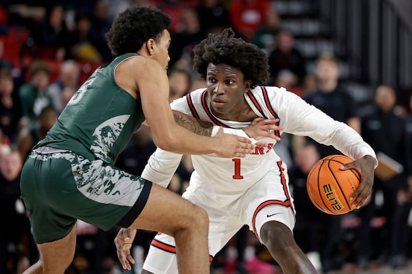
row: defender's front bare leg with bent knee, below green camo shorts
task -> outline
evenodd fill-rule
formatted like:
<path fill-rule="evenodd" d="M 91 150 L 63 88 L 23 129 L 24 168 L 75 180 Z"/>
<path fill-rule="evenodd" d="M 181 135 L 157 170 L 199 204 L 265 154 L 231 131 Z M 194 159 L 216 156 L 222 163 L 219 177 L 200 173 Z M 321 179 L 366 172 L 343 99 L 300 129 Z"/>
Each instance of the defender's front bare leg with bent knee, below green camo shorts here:
<path fill-rule="evenodd" d="M 168 234 L 176 240 L 179 273 L 209 273 L 208 216 L 205 210 L 157 184 L 130 228 Z"/>

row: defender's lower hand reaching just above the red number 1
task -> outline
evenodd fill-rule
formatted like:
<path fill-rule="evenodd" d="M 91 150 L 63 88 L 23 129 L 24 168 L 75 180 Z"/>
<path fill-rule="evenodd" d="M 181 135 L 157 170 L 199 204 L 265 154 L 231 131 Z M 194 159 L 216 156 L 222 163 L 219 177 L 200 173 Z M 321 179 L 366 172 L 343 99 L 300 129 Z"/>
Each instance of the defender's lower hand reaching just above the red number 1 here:
<path fill-rule="evenodd" d="M 215 153 L 223 158 L 244 158 L 255 151 L 251 140 L 233 134 L 224 134 L 222 127 L 213 138 L 218 139 Z"/>

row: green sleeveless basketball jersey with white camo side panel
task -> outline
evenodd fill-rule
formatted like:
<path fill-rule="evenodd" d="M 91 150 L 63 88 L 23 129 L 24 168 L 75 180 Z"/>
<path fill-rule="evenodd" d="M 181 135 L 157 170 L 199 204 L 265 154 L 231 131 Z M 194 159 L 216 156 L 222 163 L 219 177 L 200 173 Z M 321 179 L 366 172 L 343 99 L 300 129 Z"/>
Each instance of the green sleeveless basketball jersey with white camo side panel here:
<path fill-rule="evenodd" d="M 67 149 L 89 160 L 113 163 L 145 119 L 140 101 L 115 82 L 116 66 L 133 57 L 143 58 L 121 55 L 96 69 L 36 147 Z"/>

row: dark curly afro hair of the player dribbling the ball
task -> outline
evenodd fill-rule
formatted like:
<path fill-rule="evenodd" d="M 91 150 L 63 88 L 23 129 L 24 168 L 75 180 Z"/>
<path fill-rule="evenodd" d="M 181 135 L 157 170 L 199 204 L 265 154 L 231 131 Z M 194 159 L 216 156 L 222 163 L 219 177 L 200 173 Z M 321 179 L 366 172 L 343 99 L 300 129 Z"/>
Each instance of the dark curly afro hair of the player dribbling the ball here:
<path fill-rule="evenodd" d="M 235 38 L 231 28 L 225 29 L 222 34 L 209 34 L 205 40 L 194 47 L 193 51 L 193 69 L 204 80 L 209 63 L 228 64 L 239 69 L 244 79 L 251 79 L 252 88 L 266 84 L 269 79 L 266 54 L 256 45 Z"/>

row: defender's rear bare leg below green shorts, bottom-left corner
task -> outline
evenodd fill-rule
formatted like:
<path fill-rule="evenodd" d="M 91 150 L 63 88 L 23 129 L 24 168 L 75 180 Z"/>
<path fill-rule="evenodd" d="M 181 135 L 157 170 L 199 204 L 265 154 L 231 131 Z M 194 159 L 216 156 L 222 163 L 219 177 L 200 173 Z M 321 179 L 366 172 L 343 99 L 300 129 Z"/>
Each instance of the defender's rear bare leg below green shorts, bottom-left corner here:
<path fill-rule="evenodd" d="M 40 259 L 36 264 L 30 266 L 23 274 L 37 273 L 65 273 L 65 270 L 73 260 L 76 249 L 76 225 L 67 236 L 55 240 L 38 244 Z"/>

